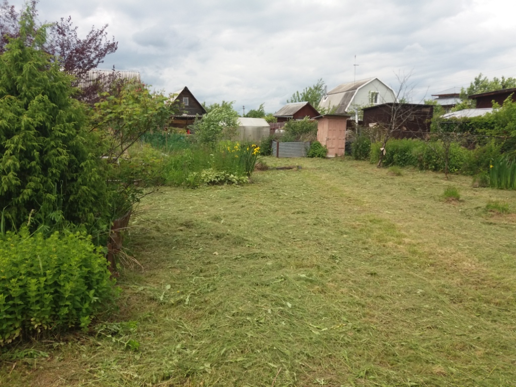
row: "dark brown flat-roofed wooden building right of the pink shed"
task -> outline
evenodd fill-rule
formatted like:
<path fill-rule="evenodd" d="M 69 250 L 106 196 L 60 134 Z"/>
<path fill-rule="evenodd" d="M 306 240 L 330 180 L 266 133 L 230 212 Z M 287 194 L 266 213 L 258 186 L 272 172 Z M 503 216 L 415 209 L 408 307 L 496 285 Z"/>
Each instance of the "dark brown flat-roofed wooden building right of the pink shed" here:
<path fill-rule="evenodd" d="M 363 111 L 365 127 L 394 128 L 394 138 L 423 138 L 430 132 L 433 105 L 386 103 Z"/>

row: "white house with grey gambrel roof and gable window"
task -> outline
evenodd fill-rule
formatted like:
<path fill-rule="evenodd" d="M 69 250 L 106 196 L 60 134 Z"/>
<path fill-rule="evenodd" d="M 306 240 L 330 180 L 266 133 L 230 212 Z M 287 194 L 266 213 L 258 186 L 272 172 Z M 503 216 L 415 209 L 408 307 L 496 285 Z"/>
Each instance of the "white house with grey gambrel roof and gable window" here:
<path fill-rule="evenodd" d="M 320 110 L 326 109 L 331 114 L 343 115 L 355 107 L 380 105 L 396 102 L 396 94 L 378 78 L 357 80 L 343 83 L 325 93 L 319 102 Z"/>

